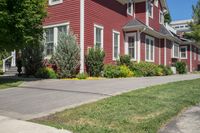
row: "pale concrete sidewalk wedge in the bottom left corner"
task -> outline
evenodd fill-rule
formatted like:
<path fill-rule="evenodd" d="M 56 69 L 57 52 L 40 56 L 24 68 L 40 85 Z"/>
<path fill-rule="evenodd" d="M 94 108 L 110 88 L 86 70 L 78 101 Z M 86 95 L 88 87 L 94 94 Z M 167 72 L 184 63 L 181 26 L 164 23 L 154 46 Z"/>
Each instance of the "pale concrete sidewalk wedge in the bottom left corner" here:
<path fill-rule="evenodd" d="M 0 116 L 0 133 L 70 133 L 53 127 Z"/>

